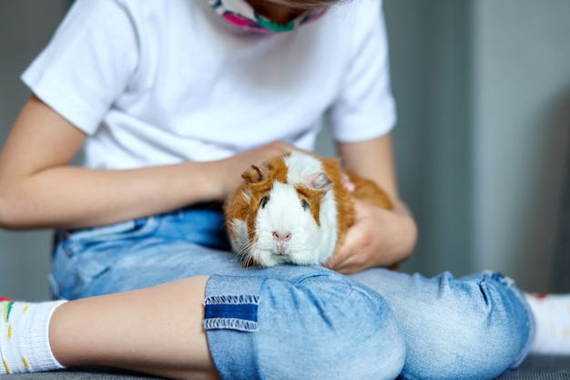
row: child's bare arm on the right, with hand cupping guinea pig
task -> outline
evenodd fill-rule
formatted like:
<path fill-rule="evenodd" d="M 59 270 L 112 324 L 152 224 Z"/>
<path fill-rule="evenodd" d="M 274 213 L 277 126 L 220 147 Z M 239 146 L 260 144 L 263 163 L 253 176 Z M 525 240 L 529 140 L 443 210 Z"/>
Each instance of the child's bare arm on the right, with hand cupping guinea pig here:
<path fill-rule="evenodd" d="M 329 265 L 336 271 L 350 273 L 401 262 L 412 254 L 417 227 L 398 195 L 391 135 L 340 143 L 338 148 L 345 168 L 376 181 L 390 195 L 395 208 L 387 211 L 355 200 L 356 223 Z"/>

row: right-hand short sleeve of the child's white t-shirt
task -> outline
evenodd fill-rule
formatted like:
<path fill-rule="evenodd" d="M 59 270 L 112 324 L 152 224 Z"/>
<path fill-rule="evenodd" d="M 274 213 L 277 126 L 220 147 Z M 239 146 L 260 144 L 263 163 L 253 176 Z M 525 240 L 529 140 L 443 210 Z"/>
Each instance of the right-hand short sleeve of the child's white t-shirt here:
<path fill-rule="evenodd" d="M 382 1 L 361 1 L 344 86 L 331 107 L 331 133 L 341 142 L 374 139 L 396 122 Z"/>

